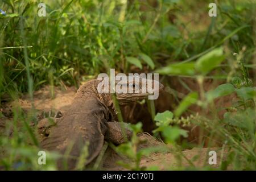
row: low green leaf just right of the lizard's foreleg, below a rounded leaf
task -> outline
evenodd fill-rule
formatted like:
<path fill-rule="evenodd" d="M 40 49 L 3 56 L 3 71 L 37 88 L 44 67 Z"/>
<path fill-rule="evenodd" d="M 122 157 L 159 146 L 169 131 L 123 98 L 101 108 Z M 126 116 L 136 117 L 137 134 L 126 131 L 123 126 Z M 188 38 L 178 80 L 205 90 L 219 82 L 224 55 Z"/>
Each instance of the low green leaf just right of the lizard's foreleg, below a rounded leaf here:
<path fill-rule="evenodd" d="M 162 134 L 167 143 L 174 143 L 180 136 L 188 137 L 187 132 L 177 126 L 167 126 L 164 128 Z"/>

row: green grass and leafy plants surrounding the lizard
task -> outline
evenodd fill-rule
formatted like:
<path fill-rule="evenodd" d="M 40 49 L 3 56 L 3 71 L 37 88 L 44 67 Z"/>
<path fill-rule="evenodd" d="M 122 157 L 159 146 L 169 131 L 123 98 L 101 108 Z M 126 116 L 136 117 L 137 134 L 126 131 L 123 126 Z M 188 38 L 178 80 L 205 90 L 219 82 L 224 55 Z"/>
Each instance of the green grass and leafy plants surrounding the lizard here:
<path fill-rule="evenodd" d="M 155 121 L 155 136 L 161 135 L 179 151 L 180 137 L 186 137 L 180 123 L 189 122 L 201 127 L 200 134 L 209 143 L 214 144 L 214 136 L 228 148 L 228 159 L 220 169 L 232 165 L 237 170 L 255 170 L 255 2 L 216 1 L 216 18 L 208 16 L 210 1 L 44 2 L 46 17 L 37 15 L 40 1 L 0 2 L 6 12 L 0 15 L 1 108 L 24 94 L 33 101 L 33 92 L 46 85 L 54 97 L 54 86 L 78 88 L 81 81 L 108 73 L 109 68 L 123 73 L 156 72 L 164 85 L 177 78 L 190 94 L 182 99 L 174 95 L 178 101 L 174 114 Z M 148 58 L 142 59 L 142 53 Z M 200 89 L 192 92 L 182 81 L 186 78 L 195 79 Z M 205 80 L 220 86 L 205 90 Z M 233 93 L 237 101 L 228 108 L 222 106 L 226 111 L 219 117 L 214 100 Z M 192 104 L 211 111 L 196 115 L 189 107 Z M 147 105 L 151 117 L 157 117 L 152 102 Z M 2 110 L 0 114 L 6 118 Z M 33 106 L 28 113 L 20 107 L 11 111 L 11 122 L 0 136 L 3 169 L 42 169 L 37 164 L 38 140 L 30 126 L 36 114 Z M 185 120 L 181 114 L 192 115 Z M 140 127 L 134 130 L 141 131 Z M 119 151 L 125 153 L 122 148 L 133 147 L 136 141 L 134 136 Z M 198 146 L 204 142 L 201 137 Z M 134 154 L 135 167 L 126 167 L 141 169 L 139 160 L 147 152 Z M 56 155 L 50 156 L 47 162 L 52 166 L 43 169 L 55 168 Z"/>

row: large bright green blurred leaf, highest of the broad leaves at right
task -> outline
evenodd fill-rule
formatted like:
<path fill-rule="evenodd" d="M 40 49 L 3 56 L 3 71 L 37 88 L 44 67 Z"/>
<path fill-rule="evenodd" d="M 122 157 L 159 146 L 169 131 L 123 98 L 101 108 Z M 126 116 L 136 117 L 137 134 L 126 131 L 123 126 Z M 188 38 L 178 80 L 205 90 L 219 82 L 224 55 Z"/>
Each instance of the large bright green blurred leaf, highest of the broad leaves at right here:
<path fill-rule="evenodd" d="M 223 55 L 222 47 L 213 49 L 197 59 L 196 70 L 207 75 L 207 73 L 212 71 L 212 69 L 219 65 L 224 59 L 225 56 Z"/>

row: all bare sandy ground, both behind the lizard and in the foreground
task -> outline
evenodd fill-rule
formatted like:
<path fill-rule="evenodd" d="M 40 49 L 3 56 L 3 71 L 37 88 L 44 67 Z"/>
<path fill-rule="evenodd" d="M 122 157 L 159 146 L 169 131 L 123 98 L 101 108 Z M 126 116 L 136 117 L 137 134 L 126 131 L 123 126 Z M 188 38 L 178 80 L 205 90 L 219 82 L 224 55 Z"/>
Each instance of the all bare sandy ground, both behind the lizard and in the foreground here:
<path fill-rule="evenodd" d="M 65 112 L 68 109 L 68 106 L 72 104 L 74 94 L 76 92 L 75 88 L 67 88 L 67 90 L 55 89 L 55 98 L 51 98 L 49 88 L 46 87 L 40 91 L 34 93 L 34 106 L 39 111 L 49 111 L 49 110 L 60 110 Z M 24 110 L 30 110 L 31 101 L 28 97 L 20 98 L 17 101 L 11 102 L 10 106 L 20 105 Z M 6 107 L 6 110 L 8 108 Z M 5 111 L 6 111 L 5 110 Z M 0 127 L 3 127 L 4 123 L 0 122 Z M 167 146 L 162 141 L 156 140 L 150 134 L 143 133 L 138 135 L 139 139 L 143 142 L 138 145 L 137 151 L 143 150 L 148 147 L 163 147 L 163 148 L 172 148 L 172 146 Z M 210 165 L 208 159 L 210 158 L 209 151 L 217 152 L 217 164 Z M 192 150 L 183 150 L 177 155 L 174 150 L 168 151 L 158 151 L 151 152 L 148 156 L 143 156 L 139 164 L 140 167 L 156 167 L 154 169 L 168 170 L 168 169 L 185 169 L 186 167 L 210 167 L 217 168 L 220 165 L 221 158 L 221 148 L 192 148 Z M 179 158 L 177 156 L 183 157 Z M 188 160 L 191 160 L 193 164 L 189 163 Z M 225 158 L 225 155 L 224 155 Z M 117 154 L 111 147 L 108 147 L 102 157 L 100 166 L 98 169 L 104 170 L 125 170 L 127 168 L 118 165 L 118 161 L 123 161 L 129 164 L 130 167 L 135 166 L 135 161 L 127 158 L 127 156 Z M 180 168 L 181 167 L 181 168 Z"/>

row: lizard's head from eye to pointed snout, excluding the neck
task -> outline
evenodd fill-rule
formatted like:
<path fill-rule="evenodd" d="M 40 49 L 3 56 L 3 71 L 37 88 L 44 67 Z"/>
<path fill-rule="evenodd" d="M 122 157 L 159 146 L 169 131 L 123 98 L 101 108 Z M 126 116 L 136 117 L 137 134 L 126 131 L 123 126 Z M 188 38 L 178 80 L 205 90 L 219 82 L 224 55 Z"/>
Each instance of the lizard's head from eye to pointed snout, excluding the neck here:
<path fill-rule="evenodd" d="M 120 105 L 148 98 L 156 100 L 164 86 L 156 80 L 139 76 L 128 76 L 122 81 L 115 81 L 115 93 Z"/>

